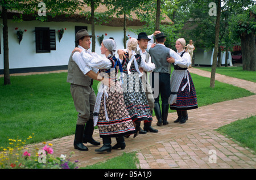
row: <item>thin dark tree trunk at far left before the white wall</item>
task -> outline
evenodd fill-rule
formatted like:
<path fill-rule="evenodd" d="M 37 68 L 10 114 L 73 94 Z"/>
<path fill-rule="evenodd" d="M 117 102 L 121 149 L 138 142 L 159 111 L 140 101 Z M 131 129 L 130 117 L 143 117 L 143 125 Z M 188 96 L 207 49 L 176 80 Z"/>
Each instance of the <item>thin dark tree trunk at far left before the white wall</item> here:
<path fill-rule="evenodd" d="M 11 84 L 9 70 L 9 47 L 8 47 L 8 25 L 7 25 L 7 10 L 2 7 L 3 18 L 3 84 Z"/>

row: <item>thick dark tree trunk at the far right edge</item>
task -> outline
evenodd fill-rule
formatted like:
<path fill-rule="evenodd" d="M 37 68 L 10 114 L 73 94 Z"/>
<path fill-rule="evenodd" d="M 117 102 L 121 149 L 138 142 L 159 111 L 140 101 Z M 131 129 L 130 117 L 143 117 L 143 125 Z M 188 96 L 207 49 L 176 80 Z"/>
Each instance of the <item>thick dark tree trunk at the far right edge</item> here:
<path fill-rule="evenodd" d="M 247 34 L 243 32 L 241 38 L 241 51 L 243 58 L 243 70 L 255 71 L 256 63 L 256 48 L 253 32 Z"/>

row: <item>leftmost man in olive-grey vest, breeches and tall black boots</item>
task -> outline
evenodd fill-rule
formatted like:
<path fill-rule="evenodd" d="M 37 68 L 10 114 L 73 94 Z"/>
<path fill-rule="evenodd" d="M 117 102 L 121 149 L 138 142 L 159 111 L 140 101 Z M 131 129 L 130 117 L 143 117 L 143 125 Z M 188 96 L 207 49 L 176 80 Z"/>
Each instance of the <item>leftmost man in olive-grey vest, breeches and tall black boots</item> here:
<path fill-rule="evenodd" d="M 76 33 L 75 42 L 79 48 L 90 53 L 91 37 L 85 29 L 82 29 Z M 72 52 L 68 62 L 67 82 L 71 83 L 71 95 L 79 113 L 77 115 L 74 147 L 80 151 L 88 151 L 83 143 L 89 142 L 93 145 L 100 145 L 100 142 L 96 142 L 92 138 L 94 131 L 93 109 L 96 102 L 92 82 L 93 79 L 99 80 L 97 79 L 97 71 L 96 68 L 90 68 L 85 64 L 79 52 Z"/>

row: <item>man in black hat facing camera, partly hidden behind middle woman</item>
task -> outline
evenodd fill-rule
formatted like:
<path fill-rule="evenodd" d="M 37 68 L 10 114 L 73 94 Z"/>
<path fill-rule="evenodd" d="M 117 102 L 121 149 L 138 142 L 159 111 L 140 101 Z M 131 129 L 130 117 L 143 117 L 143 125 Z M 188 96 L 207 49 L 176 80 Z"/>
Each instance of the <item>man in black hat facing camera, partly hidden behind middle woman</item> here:
<path fill-rule="evenodd" d="M 137 54 L 140 54 L 141 57 L 142 57 L 142 61 L 148 63 L 150 62 L 151 63 L 151 57 L 150 57 L 150 54 L 147 53 L 146 49 L 148 47 L 148 41 L 150 41 L 151 39 L 148 38 L 147 34 L 145 32 L 141 32 L 139 33 L 138 35 L 138 47 L 137 47 L 137 50 L 135 50 L 135 53 Z M 151 86 L 150 86 L 150 83 L 147 82 L 147 71 L 144 71 L 143 73 L 143 76 L 142 76 L 142 84 L 143 84 L 143 87 L 145 89 L 145 93 L 146 93 L 146 96 L 147 96 L 147 101 L 148 101 L 148 105 L 150 107 L 150 111 L 151 113 L 153 113 L 153 109 L 154 109 L 154 97 L 152 95 L 152 89 L 151 89 Z M 150 132 L 158 132 L 158 130 L 156 130 L 155 128 L 153 128 L 151 126 L 152 124 L 152 121 L 144 121 L 144 127 L 143 127 L 143 130 L 144 131 L 139 131 L 140 134 L 146 134 L 147 131 L 150 131 Z"/>

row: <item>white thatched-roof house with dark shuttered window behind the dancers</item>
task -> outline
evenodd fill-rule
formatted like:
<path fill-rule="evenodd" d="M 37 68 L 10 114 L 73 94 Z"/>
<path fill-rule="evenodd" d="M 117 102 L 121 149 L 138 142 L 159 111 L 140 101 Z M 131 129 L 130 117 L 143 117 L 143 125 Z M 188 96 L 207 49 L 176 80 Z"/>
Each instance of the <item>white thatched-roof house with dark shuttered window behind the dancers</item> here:
<path fill-rule="evenodd" d="M 98 8 L 96 9 L 96 11 Z M 103 8 L 99 10 L 104 11 Z M 105 9 L 106 10 L 106 9 Z M 88 9 L 89 11 L 89 9 Z M 167 17 L 164 23 L 170 23 Z M 0 19 L 2 24 L 2 19 Z M 143 23 L 134 16 L 133 21 L 127 20 L 126 35 L 137 38 L 129 28 L 141 28 Z M 16 29 L 18 28 L 18 29 Z M 59 41 L 59 29 L 65 29 L 63 37 Z M 39 22 L 24 18 L 23 22 L 15 23 L 8 20 L 9 38 L 9 69 L 10 74 L 18 72 L 35 72 L 49 70 L 65 70 L 68 66 L 69 56 L 75 48 L 75 34 L 80 29 L 87 29 L 91 33 L 91 24 L 84 17 L 73 15 L 70 18 L 55 18 L 51 22 Z M 16 32 L 21 29 L 22 41 L 19 44 Z M 123 49 L 123 19 L 114 18 L 108 24 L 96 25 L 96 53 L 101 54 L 98 37 L 104 35 L 104 39 L 113 37 L 118 49 Z M 153 33 L 153 32 L 152 32 Z M 106 34 L 106 35 L 105 35 Z M 36 35 L 38 38 L 36 38 Z M 50 36 L 50 37 L 49 37 Z M 0 28 L 0 74 L 3 74 L 3 31 Z M 49 38 L 49 39 L 48 39 Z M 51 49 L 49 50 L 49 42 Z"/>

